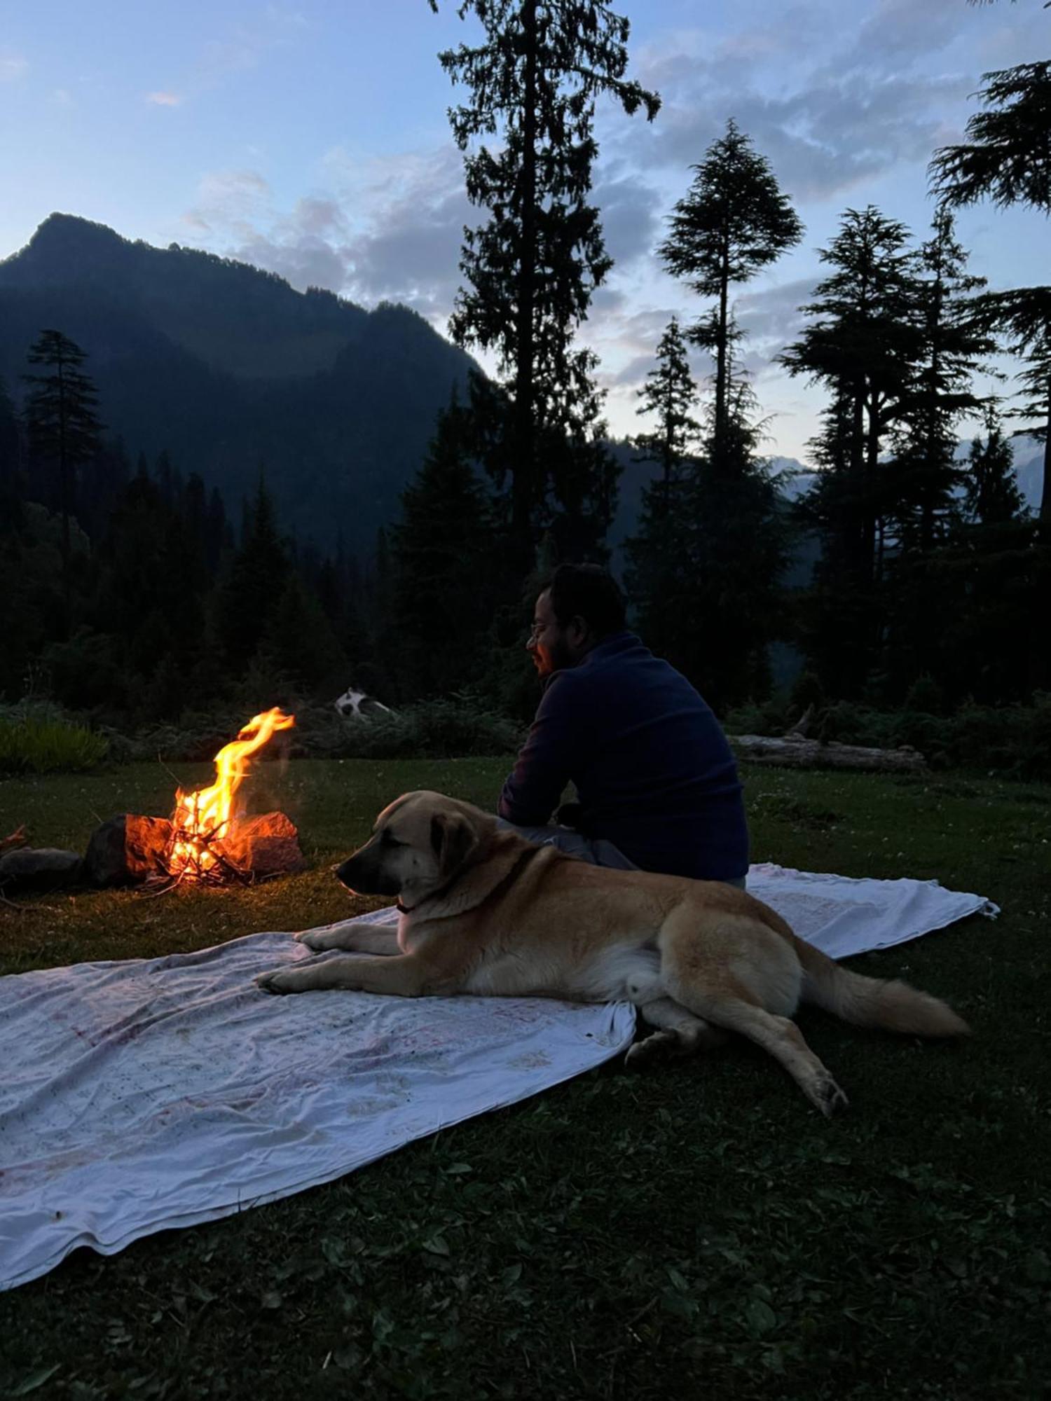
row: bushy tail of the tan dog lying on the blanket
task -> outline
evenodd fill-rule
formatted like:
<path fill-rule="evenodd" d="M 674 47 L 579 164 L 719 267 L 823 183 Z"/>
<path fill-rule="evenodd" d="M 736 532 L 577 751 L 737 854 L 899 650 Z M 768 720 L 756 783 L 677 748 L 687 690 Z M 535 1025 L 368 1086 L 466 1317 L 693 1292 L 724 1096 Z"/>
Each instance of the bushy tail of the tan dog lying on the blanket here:
<path fill-rule="evenodd" d="M 813 1002 L 856 1027 L 883 1027 L 914 1037 L 970 1035 L 963 1017 L 937 998 L 907 982 L 863 978 L 796 934 L 792 940 L 803 964 L 803 1002 Z"/>

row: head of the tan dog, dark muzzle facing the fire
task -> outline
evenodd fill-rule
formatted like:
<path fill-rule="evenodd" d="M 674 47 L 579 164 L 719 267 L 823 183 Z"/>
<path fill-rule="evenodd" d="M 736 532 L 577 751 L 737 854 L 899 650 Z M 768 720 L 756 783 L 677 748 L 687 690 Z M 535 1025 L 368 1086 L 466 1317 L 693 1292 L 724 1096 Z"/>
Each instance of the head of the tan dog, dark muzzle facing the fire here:
<path fill-rule="evenodd" d="M 405 793 L 336 876 L 362 895 L 399 895 L 412 908 L 469 864 L 496 820 L 441 793 Z"/>

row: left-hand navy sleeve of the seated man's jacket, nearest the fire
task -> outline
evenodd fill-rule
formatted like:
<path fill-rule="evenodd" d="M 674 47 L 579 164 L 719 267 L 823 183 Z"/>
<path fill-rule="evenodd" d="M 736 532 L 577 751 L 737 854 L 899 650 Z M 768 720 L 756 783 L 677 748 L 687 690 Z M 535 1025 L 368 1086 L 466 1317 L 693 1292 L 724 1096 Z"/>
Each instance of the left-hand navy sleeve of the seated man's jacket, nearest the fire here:
<path fill-rule="evenodd" d="M 503 785 L 496 811 L 516 827 L 542 827 L 582 758 L 586 734 L 576 686 L 562 672 L 548 682 L 528 738 Z"/>

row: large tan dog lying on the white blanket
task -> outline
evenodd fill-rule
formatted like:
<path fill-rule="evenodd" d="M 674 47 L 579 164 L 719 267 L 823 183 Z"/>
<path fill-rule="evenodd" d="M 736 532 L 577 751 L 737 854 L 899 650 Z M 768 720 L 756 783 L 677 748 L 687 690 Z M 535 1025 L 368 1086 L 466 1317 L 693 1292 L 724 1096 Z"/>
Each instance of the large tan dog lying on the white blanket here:
<path fill-rule="evenodd" d="M 724 1027 L 769 1051 L 827 1115 L 846 1108 L 846 1096 L 789 1020 L 800 1002 L 909 1035 L 968 1031 L 907 984 L 841 968 L 744 891 L 589 866 L 440 793 L 391 803 L 336 874 L 355 891 L 398 895 L 397 932 L 352 920 L 296 937 L 314 951 L 384 957 L 277 968 L 256 978 L 261 988 L 626 999 L 657 1028 L 628 1061 L 688 1054 Z"/>

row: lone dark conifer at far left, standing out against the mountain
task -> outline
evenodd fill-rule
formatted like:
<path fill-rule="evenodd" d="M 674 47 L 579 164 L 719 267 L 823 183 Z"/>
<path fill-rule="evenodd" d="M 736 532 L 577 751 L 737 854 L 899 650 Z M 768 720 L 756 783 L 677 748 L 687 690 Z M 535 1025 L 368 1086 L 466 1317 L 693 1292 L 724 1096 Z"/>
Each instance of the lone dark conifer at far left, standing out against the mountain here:
<path fill-rule="evenodd" d="M 81 366 L 87 352 L 60 331 L 42 331 L 29 347 L 29 364 L 42 366 L 45 374 L 27 374 L 29 389 L 25 420 L 34 458 L 57 468 L 59 510 L 62 513 L 62 591 L 69 628 L 71 601 L 70 516 L 74 511 L 77 469 L 90 461 L 101 446 L 102 423 L 95 413 L 98 394 Z"/>

